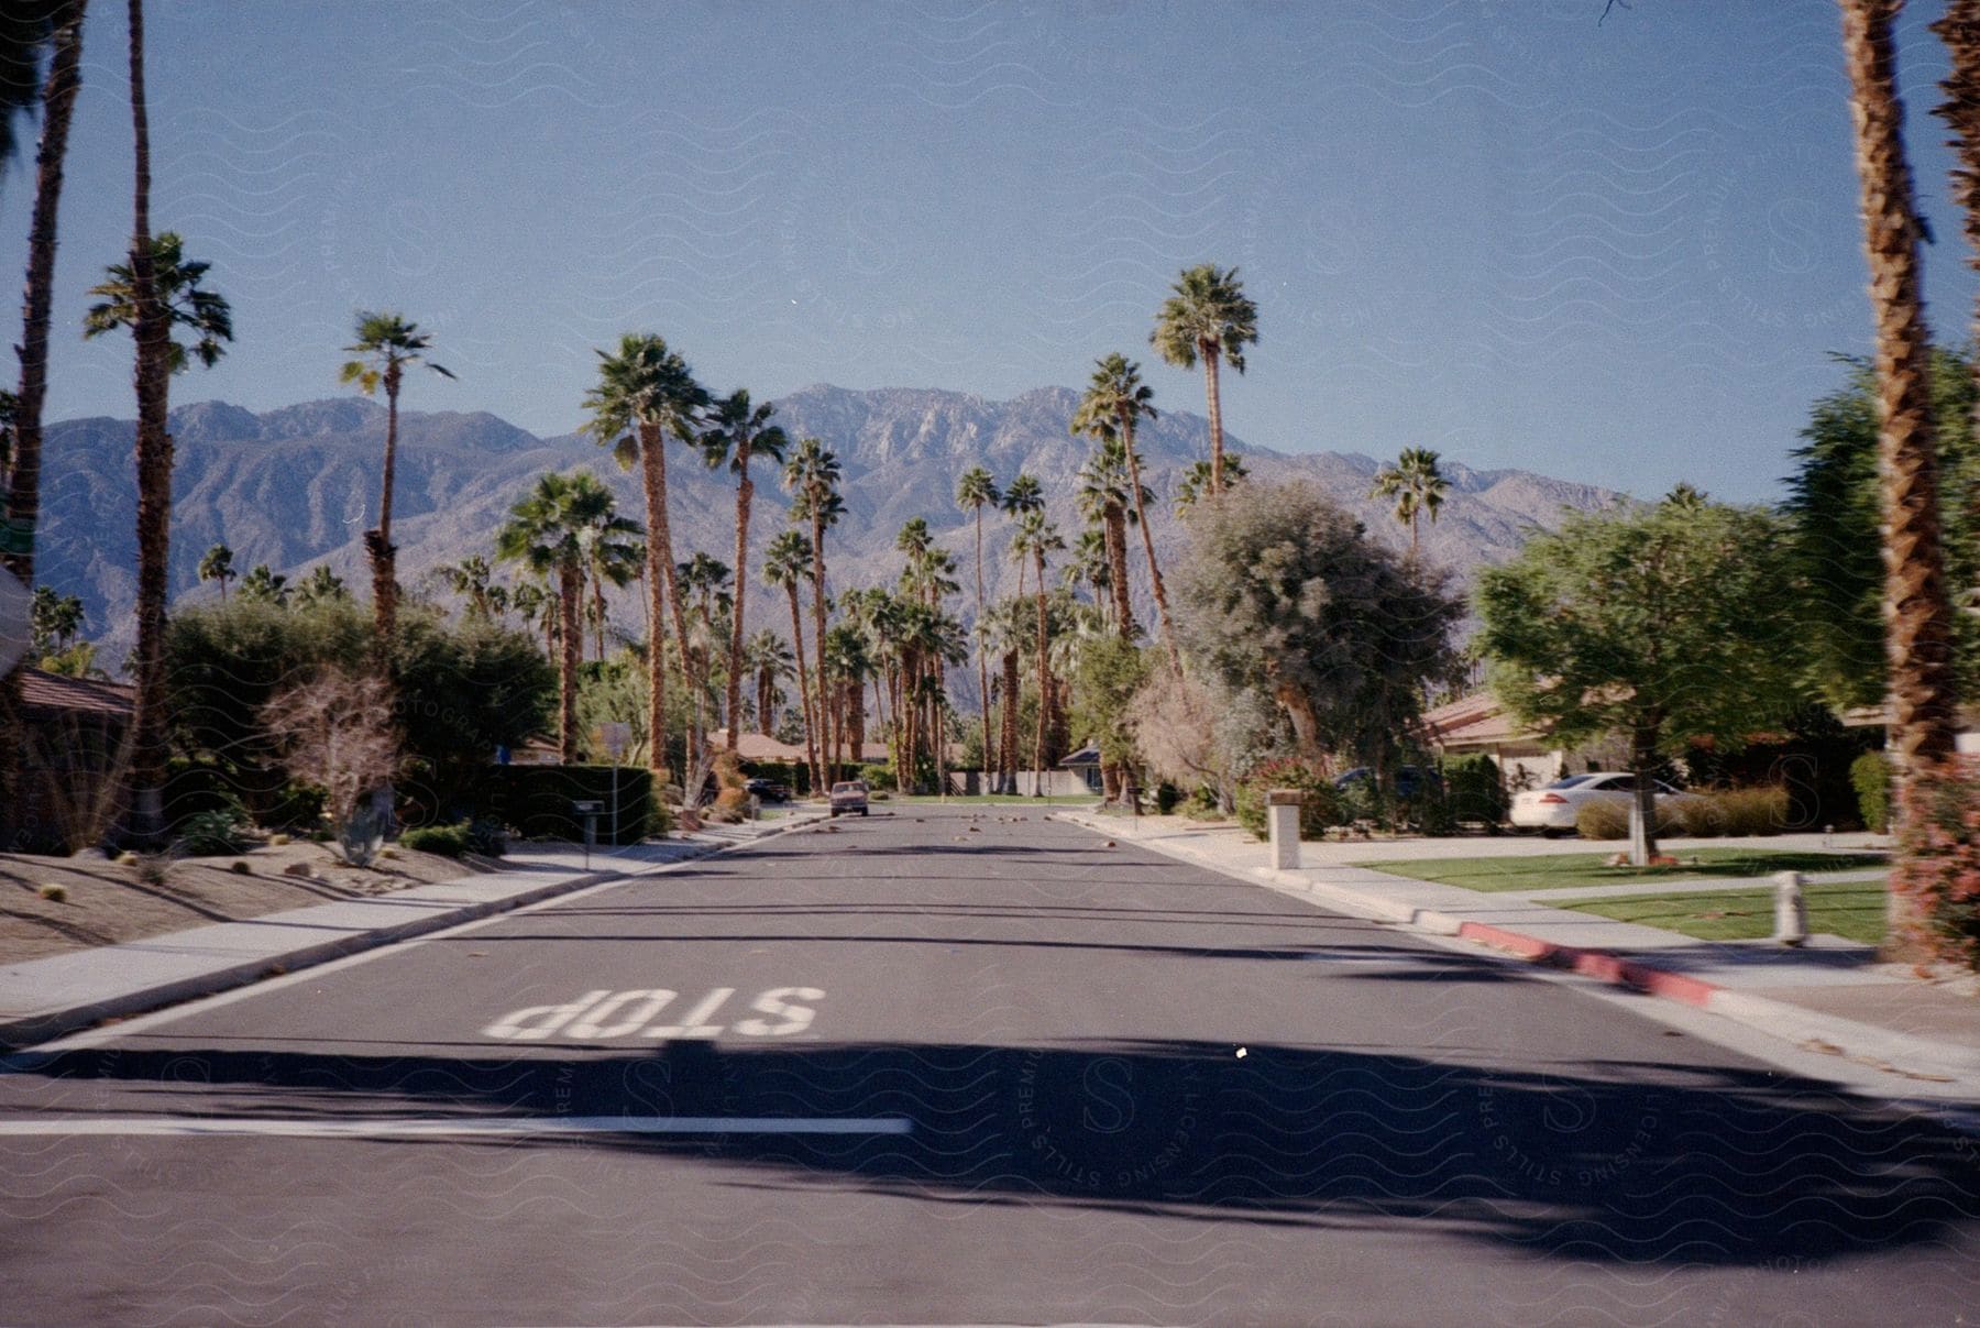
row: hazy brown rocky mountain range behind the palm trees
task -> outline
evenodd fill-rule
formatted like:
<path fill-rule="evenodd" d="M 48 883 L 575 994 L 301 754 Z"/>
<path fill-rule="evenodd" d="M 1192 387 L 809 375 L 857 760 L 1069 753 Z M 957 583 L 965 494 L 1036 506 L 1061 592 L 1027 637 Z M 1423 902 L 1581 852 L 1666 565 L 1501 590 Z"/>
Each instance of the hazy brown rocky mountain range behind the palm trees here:
<path fill-rule="evenodd" d="M 776 424 L 794 439 L 824 439 L 843 467 L 845 519 L 828 542 L 834 584 L 891 582 L 901 568 L 895 532 L 911 517 L 925 517 L 937 540 L 956 552 L 968 588 L 962 604 L 968 619 L 974 612 L 974 526 L 954 505 L 956 477 L 972 465 L 988 467 L 1000 483 L 1020 471 L 1038 475 L 1051 519 L 1069 536 L 1079 528 L 1077 471 L 1091 449 L 1087 439 L 1067 431 L 1077 400 L 1069 388 L 992 402 L 962 392 L 834 386 L 780 398 Z M 200 556 L 216 542 L 234 550 L 238 572 L 265 562 L 293 580 L 311 564 L 327 562 L 362 592 L 368 576 L 358 540 L 376 519 L 384 422 L 384 408 L 358 396 L 263 414 L 226 402 L 174 410 L 174 600 L 218 594 L 196 576 Z M 133 422 L 109 418 L 65 420 L 46 431 L 38 578 L 83 600 L 87 635 L 103 643 L 107 659 L 129 647 L 137 590 L 133 435 Z M 1208 457 L 1208 422 L 1164 412 L 1142 426 L 1138 443 L 1144 483 L 1154 493 L 1156 552 L 1166 566 L 1184 542 L 1172 515 L 1176 483 L 1192 461 Z M 1230 433 L 1226 445 L 1245 457 L 1255 481 L 1311 479 L 1378 538 L 1408 542 L 1390 507 L 1370 497 L 1378 461 L 1354 453 L 1279 453 Z M 394 497 L 400 580 L 418 586 L 440 564 L 477 552 L 491 556 L 495 528 L 535 479 L 578 465 L 614 489 L 626 515 L 642 517 L 638 475 L 620 473 L 612 457 L 580 433 L 537 437 L 481 412 L 402 410 Z M 1475 471 L 1449 459 L 1443 471 L 1449 493 L 1437 521 L 1422 524 L 1422 546 L 1426 556 L 1461 576 L 1505 560 L 1533 526 L 1556 524 L 1564 509 L 1598 511 L 1620 501 L 1612 491 L 1531 471 Z M 675 558 L 707 550 L 729 562 L 735 552 L 733 481 L 705 469 L 685 447 L 671 449 L 667 479 Z M 768 467 L 756 481 L 752 566 L 788 515 L 788 497 Z M 992 598 L 1018 584 L 1008 544 L 1010 522 L 986 513 Z M 1131 566 L 1137 570 L 1137 612 L 1152 621 L 1138 548 Z M 750 623 L 784 625 L 780 602 L 764 596 L 756 580 L 750 592 Z M 628 625 L 640 621 L 634 596 L 620 600 L 616 617 Z"/>

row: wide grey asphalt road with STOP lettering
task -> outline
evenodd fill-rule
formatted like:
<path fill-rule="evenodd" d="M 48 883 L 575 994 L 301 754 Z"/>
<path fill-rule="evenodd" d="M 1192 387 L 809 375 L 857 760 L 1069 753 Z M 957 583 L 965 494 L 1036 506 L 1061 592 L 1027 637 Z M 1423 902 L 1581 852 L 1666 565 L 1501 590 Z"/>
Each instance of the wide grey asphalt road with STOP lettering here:
<path fill-rule="evenodd" d="M 1980 1306 L 1974 1140 L 1036 811 L 842 819 L 91 1037 L 0 1075 L 4 1322 Z"/>

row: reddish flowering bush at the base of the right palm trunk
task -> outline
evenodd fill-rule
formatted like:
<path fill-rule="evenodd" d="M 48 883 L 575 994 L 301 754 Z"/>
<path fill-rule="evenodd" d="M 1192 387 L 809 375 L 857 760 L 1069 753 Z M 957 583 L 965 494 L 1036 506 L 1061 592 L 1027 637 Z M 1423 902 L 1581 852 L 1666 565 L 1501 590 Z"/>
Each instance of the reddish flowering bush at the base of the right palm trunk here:
<path fill-rule="evenodd" d="M 1899 807 L 1891 893 L 1911 902 L 1925 934 L 1891 942 L 1980 968 L 1980 762 L 1954 758 L 1919 772 Z"/>

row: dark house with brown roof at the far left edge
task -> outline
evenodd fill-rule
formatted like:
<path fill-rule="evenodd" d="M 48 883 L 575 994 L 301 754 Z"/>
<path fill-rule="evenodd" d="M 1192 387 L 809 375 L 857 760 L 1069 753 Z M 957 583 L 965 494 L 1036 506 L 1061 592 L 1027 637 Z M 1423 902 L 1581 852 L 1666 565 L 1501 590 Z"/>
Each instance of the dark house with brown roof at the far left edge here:
<path fill-rule="evenodd" d="M 8 847 L 81 849 L 115 829 L 131 772 L 125 683 L 22 669 L 22 802 L 6 815 Z"/>

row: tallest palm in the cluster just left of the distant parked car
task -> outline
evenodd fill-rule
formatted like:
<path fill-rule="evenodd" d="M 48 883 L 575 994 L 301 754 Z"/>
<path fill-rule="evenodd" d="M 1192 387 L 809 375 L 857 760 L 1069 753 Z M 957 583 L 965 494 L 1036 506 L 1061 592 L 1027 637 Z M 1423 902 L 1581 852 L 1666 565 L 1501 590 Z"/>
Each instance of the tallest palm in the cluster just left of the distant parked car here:
<path fill-rule="evenodd" d="M 667 776 L 667 663 L 659 649 L 659 621 L 673 608 L 673 635 L 681 651 L 681 677 L 693 679 L 687 663 L 687 610 L 673 580 L 673 534 L 667 526 L 665 433 L 691 441 L 695 412 L 709 394 L 695 382 L 687 362 L 649 332 L 626 332 L 618 352 L 598 352 L 598 382 L 584 392 L 590 420 L 584 431 L 600 447 L 610 445 L 622 469 L 640 463 L 645 495 L 645 616 L 647 616 L 647 732 L 653 776 Z M 661 594 L 665 592 L 665 602 Z M 693 752 L 687 756 L 693 762 Z"/>

